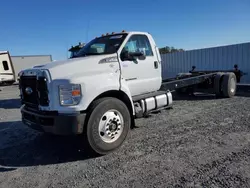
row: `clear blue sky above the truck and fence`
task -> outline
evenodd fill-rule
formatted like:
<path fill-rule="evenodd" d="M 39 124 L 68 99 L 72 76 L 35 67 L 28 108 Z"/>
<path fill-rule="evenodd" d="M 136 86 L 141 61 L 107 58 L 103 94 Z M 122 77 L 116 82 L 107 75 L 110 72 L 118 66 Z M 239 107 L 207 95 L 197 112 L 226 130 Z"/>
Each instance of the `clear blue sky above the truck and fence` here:
<path fill-rule="evenodd" d="M 123 29 L 187 50 L 250 41 L 249 0 L 9 0 L 0 10 L 11 55 L 65 59 L 71 45 Z"/>

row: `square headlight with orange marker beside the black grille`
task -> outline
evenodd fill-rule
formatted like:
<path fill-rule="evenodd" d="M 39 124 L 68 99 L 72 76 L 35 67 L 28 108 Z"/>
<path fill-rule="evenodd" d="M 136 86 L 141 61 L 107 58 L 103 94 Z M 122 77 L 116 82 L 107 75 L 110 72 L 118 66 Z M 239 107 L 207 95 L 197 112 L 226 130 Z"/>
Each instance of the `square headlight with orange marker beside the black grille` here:
<path fill-rule="evenodd" d="M 82 92 L 81 85 L 59 85 L 60 104 L 63 106 L 77 105 L 80 103 Z"/>

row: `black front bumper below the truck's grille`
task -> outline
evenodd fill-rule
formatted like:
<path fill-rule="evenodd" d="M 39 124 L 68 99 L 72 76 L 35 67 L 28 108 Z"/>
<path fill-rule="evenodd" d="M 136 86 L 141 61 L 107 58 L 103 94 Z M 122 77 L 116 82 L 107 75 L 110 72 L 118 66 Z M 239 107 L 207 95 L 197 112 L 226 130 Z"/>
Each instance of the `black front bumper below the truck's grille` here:
<path fill-rule="evenodd" d="M 59 114 L 57 112 L 41 112 L 21 107 L 22 122 L 40 132 L 55 135 L 74 135 L 83 133 L 85 113 Z"/>

